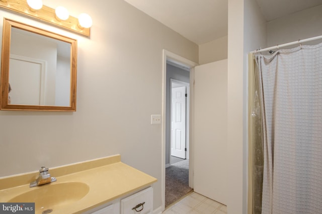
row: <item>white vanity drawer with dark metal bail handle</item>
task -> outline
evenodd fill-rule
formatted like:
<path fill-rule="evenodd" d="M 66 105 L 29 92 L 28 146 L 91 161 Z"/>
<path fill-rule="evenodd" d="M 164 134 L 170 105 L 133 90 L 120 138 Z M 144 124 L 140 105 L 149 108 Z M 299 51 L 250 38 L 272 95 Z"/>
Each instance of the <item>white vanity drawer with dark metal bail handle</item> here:
<path fill-rule="evenodd" d="M 153 211 L 153 188 L 148 187 L 121 199 L 121 214 L 146 214 Z"/>

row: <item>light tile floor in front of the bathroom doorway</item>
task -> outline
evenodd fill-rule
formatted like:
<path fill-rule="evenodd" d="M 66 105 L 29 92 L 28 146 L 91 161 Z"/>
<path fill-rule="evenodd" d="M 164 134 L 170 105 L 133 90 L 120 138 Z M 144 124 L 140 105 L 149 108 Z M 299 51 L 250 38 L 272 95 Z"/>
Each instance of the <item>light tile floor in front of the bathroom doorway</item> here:
<path fill-rule="evenodd" d="M 192 192 L 169 206 L 164 214 L 226 214 L 227 207 L 201 194 Z"/>

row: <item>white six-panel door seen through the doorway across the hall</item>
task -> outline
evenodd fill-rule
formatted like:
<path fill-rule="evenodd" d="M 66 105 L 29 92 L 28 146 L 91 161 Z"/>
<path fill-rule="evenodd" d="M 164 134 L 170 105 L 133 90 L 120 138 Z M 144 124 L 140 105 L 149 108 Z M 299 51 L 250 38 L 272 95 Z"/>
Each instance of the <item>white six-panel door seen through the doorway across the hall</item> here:
<path fill-rule="evenodd" d="M 186 159 L 186 87 L 172 88 L 171 155 Z"/>

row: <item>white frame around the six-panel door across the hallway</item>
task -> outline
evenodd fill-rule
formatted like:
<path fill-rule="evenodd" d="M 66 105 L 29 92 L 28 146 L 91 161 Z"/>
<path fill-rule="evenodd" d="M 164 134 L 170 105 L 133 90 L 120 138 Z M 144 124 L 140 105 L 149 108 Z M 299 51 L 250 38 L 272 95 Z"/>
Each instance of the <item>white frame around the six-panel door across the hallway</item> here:
<path fill-rule="evenodd" d="M 189 133 L 189 127 L 190 127 L 190 115 L 189 115 L 189 112 L 190 112 L 190 83 L 186 83 L 186 82 L 183 82 L 183 81 L 180 81 L 180 80 L 176 80 L 176 79 L 173 79 L 173 78 L 170 78 L 170 102 L 172 102 L 172 83 L 177 83 L 177 84 L 180 84 L 182 86 L 185 86 L 186 87 L 186 93 L 187 93 L 187 99 L 186 99 L 186 148 L 187 148 L 187 152 L 186 152 L 186 159 L 190 159 L 190 155 L 189 155 L 189 136 L 190 136 L 190 133 Z M 171 118 L 171 115 L 172 115 L 172 108 L 170 108 L 170 118 Z M 171 134 L 171 123 L 170 123 L 170 134 Z M 188 131 L 187 131 L 188 130 Z M 171 156 L 171 142 L 170 142 L 170 151 L 169 151 L 169 155 Z M 171 162 L 169 162 L 169 164 L 171 165 Z"/>

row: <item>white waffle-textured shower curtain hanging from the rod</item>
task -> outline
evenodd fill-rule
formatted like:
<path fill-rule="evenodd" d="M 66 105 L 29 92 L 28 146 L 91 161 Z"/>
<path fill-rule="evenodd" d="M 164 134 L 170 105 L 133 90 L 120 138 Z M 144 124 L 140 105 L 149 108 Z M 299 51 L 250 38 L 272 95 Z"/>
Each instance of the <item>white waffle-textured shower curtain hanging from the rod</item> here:
<path fill-rule="evenodd" d="M 263 214 L 322 213 L 322 44 L 256 55 Z"/>

